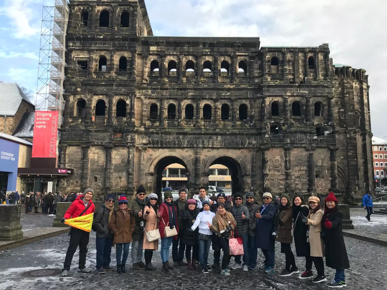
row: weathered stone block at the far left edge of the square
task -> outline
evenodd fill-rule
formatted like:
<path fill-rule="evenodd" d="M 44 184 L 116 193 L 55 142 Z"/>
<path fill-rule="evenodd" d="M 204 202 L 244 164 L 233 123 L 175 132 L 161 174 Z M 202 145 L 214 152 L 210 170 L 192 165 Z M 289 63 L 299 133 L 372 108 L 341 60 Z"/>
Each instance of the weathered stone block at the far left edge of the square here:
<path fill-rule="evenodd" d="M 18 240 L 23 237 L 20 224 L 21 205 L 0 205 L 0 241 Z"/>

